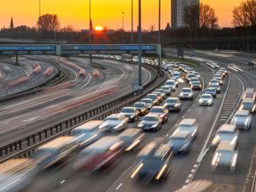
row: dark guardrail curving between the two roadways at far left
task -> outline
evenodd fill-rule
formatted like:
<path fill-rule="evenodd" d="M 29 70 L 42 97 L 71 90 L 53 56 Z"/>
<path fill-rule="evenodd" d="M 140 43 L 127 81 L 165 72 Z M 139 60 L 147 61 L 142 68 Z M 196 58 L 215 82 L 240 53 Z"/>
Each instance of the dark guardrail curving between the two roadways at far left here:
<path fill-rule="evenodd" d="M 53 81 L 54 79 L 59 79 L 57 81 L 57 83 L 60 83 L 63 79 L 66 78 L 66 73 L 64 73 L 63 69 L 61 68 L 61 66 L 57 63 L 57 62 L 52 62 L 52 64 L 55 65 L 55 67 L 57 68 L 57 73 L 52 76 L 50 79 L 48 79 L 47 81 L 45 81 L 43 84 L 40 84 L 36 87 L 33 87 L 30 90 L 26 90 L 26 91 L 22 91 L 20 93 L 14 94 L 14 95 L 10 95 L 10 96 L 3 96 L 0 99 L 0 103 L 3 102 L 9 102 L 11 100 L 17 99 L 17 98 L 21 98 L 21 97 L 25 97 L 25 96 L 31 96 L 34 95 L 40 91 L 44 90 L 44 86 L 47 84 L 50 84 L 51 81 Z"/>

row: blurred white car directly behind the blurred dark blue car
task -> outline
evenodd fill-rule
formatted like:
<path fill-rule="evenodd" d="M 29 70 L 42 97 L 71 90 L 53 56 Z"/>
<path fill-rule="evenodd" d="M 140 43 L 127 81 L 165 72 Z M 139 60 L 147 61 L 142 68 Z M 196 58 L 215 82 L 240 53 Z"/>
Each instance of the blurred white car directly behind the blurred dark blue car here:
<path fill-rule="evenodd" d="M 183 119 L 178 125 L 176 131 L 189 131 L 194 140 L 198 135 L 198 124 L 196 119 Z"/>

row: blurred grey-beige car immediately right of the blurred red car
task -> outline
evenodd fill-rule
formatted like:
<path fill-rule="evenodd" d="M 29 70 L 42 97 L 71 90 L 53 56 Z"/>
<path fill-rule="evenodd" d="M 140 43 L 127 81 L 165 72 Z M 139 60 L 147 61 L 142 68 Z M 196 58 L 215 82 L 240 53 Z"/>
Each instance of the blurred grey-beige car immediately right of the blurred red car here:
<path fill-rule="evenodd" d="M 129 128 L 120 133 L 118 137 L 123 142 L 125 151 L 131 151 L 139 148 L 140 144 L 143 143 L 145 134 L 137 128 Z"/>

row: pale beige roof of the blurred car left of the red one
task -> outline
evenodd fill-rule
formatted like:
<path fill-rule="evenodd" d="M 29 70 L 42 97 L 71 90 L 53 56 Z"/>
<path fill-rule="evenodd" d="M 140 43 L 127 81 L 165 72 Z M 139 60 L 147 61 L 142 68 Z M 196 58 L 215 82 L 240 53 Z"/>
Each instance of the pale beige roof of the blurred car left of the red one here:
<path fill-rule="evenodd" d="M 71 143 L 76 137 L 70 137 L 70 136 L 63 136 L 55 138 L 54 140 L 50 141 L 49 143 L 45 143 L 41 148 L 61 148 L 63 145 L 66 145 L 67 143 Z"/>

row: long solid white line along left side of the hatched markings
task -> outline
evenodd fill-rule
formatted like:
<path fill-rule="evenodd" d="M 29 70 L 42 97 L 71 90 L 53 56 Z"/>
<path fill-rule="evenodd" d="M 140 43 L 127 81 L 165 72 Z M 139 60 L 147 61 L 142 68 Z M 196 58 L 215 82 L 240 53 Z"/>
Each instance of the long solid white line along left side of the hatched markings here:
<path fill-rule="evenodd" d="M 221 102 L 221 105 L 220 105 L 220 107 L 219 107 L 218 113 L 217 113 L 216 118 L 215 118 L 215 120 L 214 120 L 214 122 L 213 122 L 213 125 L 212 125 L 212 127 L 211 127 L 211 130 L 209 131 L 209 134 L 208 134 L 208 136 L 207 136 L 207 140 L 206 140 L 206 142 L 205 142 L 203 148 L 201 149 L 201 153 L 199 154 L 199 156 L 198 156 L 198 158 L 197 158 L 197 162 L 201 162 L 201 160 L 202 160 L 202 158 L 203 158 L 203 155 L 205 154 L 205 150 L 206 150 L 206 148 L 207 148 L 207 143 L 209 142 L 210 137 L 212 136 L 212 131 L 213 131 L 215 125 L 216 125 L 217 122 L 218 122 L 218 117 L 219 117 L 220 113 L 222 112 L 222 108 L 223 108 L 223 106 L 224 106 L 225 97 L 227 96 L 227 94 L 228 94 L 228 92 L 229 92 L 229 90 L 230 90 L 230 82 L 231 82 L 231 74 L 229 73 L 229 84 L 228 84 L 227 90 L 226 90 L 226 92 L 225 92 L 225 94 L 224 94 L 223 101 Z"/>

